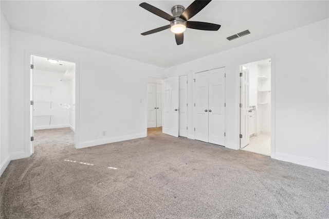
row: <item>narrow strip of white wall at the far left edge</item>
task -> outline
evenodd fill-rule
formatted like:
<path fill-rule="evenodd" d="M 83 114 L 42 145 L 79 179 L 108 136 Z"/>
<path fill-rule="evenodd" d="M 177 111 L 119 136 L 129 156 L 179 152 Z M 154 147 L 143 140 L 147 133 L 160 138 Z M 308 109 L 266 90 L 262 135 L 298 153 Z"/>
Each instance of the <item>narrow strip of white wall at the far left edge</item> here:
<path fill-rule="evenodd" d="M 10 162 L 9 153 L 9 38 L 10 29 L 0 8 L 0 176 Z"/>

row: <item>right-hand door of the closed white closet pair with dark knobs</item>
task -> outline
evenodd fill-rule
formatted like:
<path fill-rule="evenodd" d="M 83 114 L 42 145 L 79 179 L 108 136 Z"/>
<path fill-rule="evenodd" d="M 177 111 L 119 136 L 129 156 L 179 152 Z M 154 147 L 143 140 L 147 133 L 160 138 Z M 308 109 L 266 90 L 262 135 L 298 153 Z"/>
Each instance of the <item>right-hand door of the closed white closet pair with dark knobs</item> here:
<path fill-rule="evenodd" d="M 209 143 L 225 145 L 225 68 L 209 74 Z"/>

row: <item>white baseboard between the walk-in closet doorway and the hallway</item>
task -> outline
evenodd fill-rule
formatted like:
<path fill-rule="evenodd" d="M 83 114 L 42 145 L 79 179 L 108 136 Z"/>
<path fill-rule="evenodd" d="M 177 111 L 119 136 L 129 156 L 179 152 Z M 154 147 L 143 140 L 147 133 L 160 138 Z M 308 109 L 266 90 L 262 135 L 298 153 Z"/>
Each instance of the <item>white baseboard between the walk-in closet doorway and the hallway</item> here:
<path fill-rule="evenodd" d="M 143 137 L 147 137 L 146 132 L 134 134 L 134 135 L 124 135 L 124 136 L 118 136 L 118 137 L 112 137 L 112 138 L 103 138 L 103 139 L 97 139 L 97 140 L 91 140 L 91 141 L 84 141 L 84 142 L 78 143 L 78 145 L 76 145 L 76 149 L 88 148 L 88 147 L 93 147 L 93 146 L 97 146 L 97 145 L 108 144 L 108 143 L 113 143 L 113 142 L 118 142 L 118 141 L 126 141 L 126 140 L 143 138 Z"/>

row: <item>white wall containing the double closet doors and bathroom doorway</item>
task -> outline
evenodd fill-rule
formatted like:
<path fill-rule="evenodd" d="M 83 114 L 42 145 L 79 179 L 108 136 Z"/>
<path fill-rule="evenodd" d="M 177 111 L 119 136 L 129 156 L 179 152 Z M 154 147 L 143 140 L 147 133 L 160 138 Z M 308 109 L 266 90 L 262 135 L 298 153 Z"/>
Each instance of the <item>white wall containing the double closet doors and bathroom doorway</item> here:
<path fill-rule="evenodd" d="M 252 34 L 252 33 L 251 33 Z M 239 39 L 237 39 L 239 40 Z M 227 141 L 239 149 L 239 65 L 272 58 L 275 69 L 276 159 L 328 170 L 328 20 L 166 69 L 166 77 L 189 76 L 193 115 L 193 73 L 226 66 Z M 193 118 L 189 117 L 189 127 Z M 193 138 L 189 129 L 189 138 Z"/>

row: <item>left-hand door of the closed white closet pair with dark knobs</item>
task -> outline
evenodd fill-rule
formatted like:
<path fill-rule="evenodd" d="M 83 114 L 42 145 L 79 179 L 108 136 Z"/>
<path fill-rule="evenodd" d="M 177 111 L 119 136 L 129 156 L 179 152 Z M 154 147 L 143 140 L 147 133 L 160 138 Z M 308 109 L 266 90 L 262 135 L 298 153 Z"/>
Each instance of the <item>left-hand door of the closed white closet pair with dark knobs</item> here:
<path fill-rule="evenodd" d="M 194 126 L 195 139 L 208 142 L 208 71 L 195 74 Z"/>

